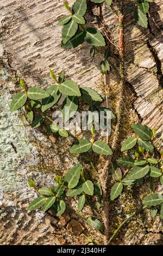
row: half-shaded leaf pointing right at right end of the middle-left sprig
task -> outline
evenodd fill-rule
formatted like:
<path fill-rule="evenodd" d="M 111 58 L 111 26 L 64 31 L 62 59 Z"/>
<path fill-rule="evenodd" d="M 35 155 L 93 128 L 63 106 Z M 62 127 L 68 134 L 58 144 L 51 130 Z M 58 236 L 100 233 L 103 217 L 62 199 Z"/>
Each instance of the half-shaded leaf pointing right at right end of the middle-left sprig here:
<path fill-rule="evenodd" d="M 80 88 L 80 91 L 82 93 L 82 99 L 86 101 L 103 101 L 102 97 L 96 92 L 96 90 L 90 88 L 90 87 L 82 87 Z"/>

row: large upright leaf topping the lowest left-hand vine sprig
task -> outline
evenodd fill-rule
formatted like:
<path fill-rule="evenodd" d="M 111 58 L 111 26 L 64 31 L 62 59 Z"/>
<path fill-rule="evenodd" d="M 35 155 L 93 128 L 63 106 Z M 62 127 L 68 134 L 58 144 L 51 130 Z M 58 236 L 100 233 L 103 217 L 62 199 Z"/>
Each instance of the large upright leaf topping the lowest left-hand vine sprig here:
<path fill-rule="evenodd" d="M 82 169 L 82 165 L 79 164 L 77 166 L 72 167 L 65 175 L 64 182 L 68 188 L 76 187 L 79 179 L 80 179 L 80 170 Z"/>

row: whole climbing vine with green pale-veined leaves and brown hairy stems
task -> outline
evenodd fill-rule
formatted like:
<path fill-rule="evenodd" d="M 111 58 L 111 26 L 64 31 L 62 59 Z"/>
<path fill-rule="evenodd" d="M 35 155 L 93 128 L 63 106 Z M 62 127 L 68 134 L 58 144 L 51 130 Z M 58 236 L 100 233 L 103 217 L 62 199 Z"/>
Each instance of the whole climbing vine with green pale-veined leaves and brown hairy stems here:
<path fill-rule="evenodd" d="M 112 144 L 108 145 L 108 136 L 105 141 L 97 141 L 95 137 L 94 126 L 91 128 L 90 139 L 78 139 L 69 130 L 62 129 L 58 124 L 53 124 L 54 119 L 47 114 L 49 109 L 53 107 L 59 101 L 61 95 L 65 95 L 65 100 L 62 103 L 61 111 L 64 115 L 65 123 L 69 119 L 73 118 L 79 107 L 80 99 L 84 100 L 89 105 L 89 111 L 104 111 L 108 112 L 108 85 L 106 84 L 106 75 L 110 72 L 114 72 L 120 83 L 120 99 L 123 99 L 123 89 L 126 84 L 124 78 L 124 18 L 131 12 L 134 12 L 135 21 L 138 25 L 147 28 L 148 19 L 147 12 L 149 10 L 149 3 L 153 0 L 139 0 L 132 1 L 129 4 L 128 9 L 124 10 L 123 1 L 120 1 L 118 8 L 115 8 L 115 3 L 112 0 L 91 0 L 92 3 L 100 4 L 104 3 L 117 15 L 119 23 L 119 44 L 115 45 L 106 32 L 101 29 L 89 26 L 86 24 L 86 12 L 87 1 L 77 0 L 74 2 L 72 8 L 68 3 L 64 1 L 64 6 L 67 9 L 67 15 L 62 17 L 58 22 L 62 27 L 62 48 L 75 48 L 81 45 L 84 41 L 90 44 L 90 57 L 93 58 L 95 53 L 101 57 L 100 70 L 104 76 L 104 94 L 99 94 L 96 90 L 87 87 L 79 88 L 77 83 L 65 78 L 64 72 L 61 72 L 57 78 L 54 72 L 51 70 L 51 76 L 54 80 L 54 85 L 49 86 L 47 89 L 41 89 L 40 87 L 27 88 L 26 83 L 20 80 L 22 92 L 17 93 L 11 101 L 11 111 L 15 111 L 22 106 L 25 106 L 28 112 L 29 120 L 33 128 L 37 128 L 41 125 L 46 127 L 49 132 L 59 133 L 62 137 L 71 136 L 74 139 L 74 144 L 70 149 L 71 154 L 85 154 L 90 161 L 91 167 L 96 170 L 93 159 L 91 159 L 90 153 L 101 154 L 106 157 L 106 164 L 101 175 L 99 175 L 98 184 L 93 184 L 92 180 L 87 180 L 82 165 L 72 167 L 68 170 L 64 178 L 59 176 L 55 177 L 58 185 L 48 188 L 37 188 L 33 180 L 29 180 L 30 187 L 33 187 L 39 197 L 34 199 L 28 207 L 28 210 L 43 209 L 48 211 L 52 209 L 56 216 L 62 215 L 65 211 L 72 211 L 78 216 L 84 218 L 91 227 L 96 228 L 103 232 L 105 230 L 105 244 L 111 242 L 117 231 L 120 230 L 123 224 L 125 224 L 131 217 L 147 207 L 151 207 L 152 216 L 156 212 L 160 211 L 160 217 L 163 218 L 163 196 L 160 193 L 153 193 L 154 179 L 160 179 L 163 185 L 163 153 L 161 156 L 156 152 L 152 144 L 155 137 L 156 130 L 149 129 L 145 125 L 133 124 L 132 128 L 135 132 L 135 136 L 128 138 L 121 147 L 123 152 L 122 157 L 116 159 L 114 152 L 117 150 L 118 135 L 120 134 L 120 124 L 122 122 L 122 109 L 123 100 L 120 101 L 118 106 L 117 117 L 111 112 L 111 119 L 116 118 L 116 129 L 114 131 L 114 139 Z M 119 54 L 119 63 L 117 66 L 112 61 L 112 51 L 110 44 L 113 45 Z M 105 46 L 103 48 L 98 47 Z M 101 50 L 102 49 L 102 50 Z M 101 107 L 101 103 L 106 101 L 106 107 Z M 65 113 L 65 108 L 70 109 L 69 115 Z M 49 112 L 48 112 L 49 113 Z M 95 121 L 95 120 L 94 120 Z M 89 117 L 87 119 L 89 123 Z M 111 163 L 111 164 L 110 164 Z M 113 166 L 113 168 L 112 168 Z M 113 169 L 114 186 L 111 188 L 110 199 L 115 200 L 120 196 L 124 186 L 133 186 L 135 183 L 142 186 L 144 182 L 149 180 L 149 194 L 142 200 L 143 206 L 140 210 L 135 211 L 121 225 L 115 230 L 114 234 L 109 237 L 109 222 L 108 222 L 108 169 Z M 96 170 L 97 171 L 97 170 Z M 98 174 L 98 173 L 97 173 Z M 74 211 L 69 205 L 67 198 L 75 197 L 78 199 L 78 211 Z M 96 197 L 96 208 L 92 206 L 92 197 Z M 93 215 L 85 217 L 79 212 L 82 211 L 84 205 L 87 204 L 91 207 Z M 104 225 L 98 220 L 98 210 L 103 205 L 105 219 Z"/>

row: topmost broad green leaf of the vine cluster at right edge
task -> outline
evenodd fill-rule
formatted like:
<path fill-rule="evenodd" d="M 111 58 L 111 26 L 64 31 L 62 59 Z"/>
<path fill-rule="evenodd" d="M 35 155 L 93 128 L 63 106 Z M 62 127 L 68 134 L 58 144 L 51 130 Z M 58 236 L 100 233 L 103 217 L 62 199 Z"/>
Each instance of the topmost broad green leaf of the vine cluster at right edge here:
<path fill-rule="evenodd" d="M 152 138 L 152 130 L 149 129 L 146 125 L 132 124 L 131 127 L 133 128 L 136 135 L 138 135 L 144 141 L 150 141 Z"/>

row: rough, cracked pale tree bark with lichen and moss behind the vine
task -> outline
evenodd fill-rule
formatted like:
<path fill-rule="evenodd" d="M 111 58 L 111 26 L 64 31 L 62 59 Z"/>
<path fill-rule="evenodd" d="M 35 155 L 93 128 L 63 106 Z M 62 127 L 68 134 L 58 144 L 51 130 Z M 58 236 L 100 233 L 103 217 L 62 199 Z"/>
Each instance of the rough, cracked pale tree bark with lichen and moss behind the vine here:
<path fill-rule="evenodd" d="M 68 2 L 71 5 L 74 1 Z M 163 146 L 163 2 L 155 0 L 150 5 L 148 29 L 135 26 L 132 15 L 124 19 L 125 77 L 131 92 L 124 102 L 130 117 L 157 129 L 155 145 L 160 150 Z M 98 5 L 89 9 L 87 20 L 91 25 L 104 29 L 112 41 L 118 44 L 116 15 L 105 4 L 102 4 L 102 9 Z M 28 199 L 35 196 L 27 185 L 28 177 L 32 177 L 38 186 L 52 185 L 54 175 L 66 173 L 68 168 L 78 163 L 78 159 L 68 153 L 72 139 L 67 139 L 65 144 L 65 139 L 53 138 L 41 130 L 33 131 L 28 126 L 25 113 L 9 111 L 11 96 L 18 88 L 15 73 L 23 77 L 28 86 L 40 84 L 44 88 L 52 83 L 49 69 L 56 72 L 64 70 L 67 77 L 71 77 L 79 86 L 95 88 L 96 83 L 102 81 L 99 58 L 96 56 L 95 59 L 90 59 L 90 47 L 86 43 L 74 50 L 60 48 L 61 27 L 56 25 L 66 14 L 62 1 L 1 0 L 0 12 L 0 243 L 85 244 L 91 242 L 93 237 L 95 242 L 102 243 L 100 234 L 96 233 L 95 236 L 85 222 L 76 222 L 73 215 L 65 215 L 59 219 L 51 214 L 42 214 L 41 211 L 27 212 Z M 143 40 L 129 41 L 142 38 L 147 33 L 149 34 Z M 116 88 L 115 77 L 109 77 L 109 81 L 111 87 L 114 88 L 115 85 Z M 132 108 L 127 104 L 130 98 L 133 101 Z M 116 112 L 116 106 L 113 105 L 112 108 Z M 128 120 L 126 123 L 129 123 Z M 21 124 L 26 126 L 20 126 Z M 128 130 L 126 125 L 124 131 Z M 98 162 L 97 168 L 101 169 Z M 162 187 L 155 186 L 155 190 L 161 191 Z M 126 214 L 136 208 L 137 200 L 147 192 L 147 187 L 139 189 L 135 186 L 135 194 L 130 188 L 126 188 L 124 192 L 112 209 L 110 218 L 115 224 L 112 224 L 111 231 L 116 228 L 116 223 L 121 222 Z M 76 207 L 76 201 L 72 203 Z M 84 209 L 83 213 L 89 216 L 90 209 Z M 159 216 L 151 219 L 148 210 L 145 215 L 141 214 L 124 227 L 116 243 L 161 244 L 162 226 Z"/>

